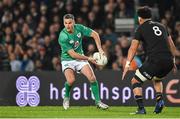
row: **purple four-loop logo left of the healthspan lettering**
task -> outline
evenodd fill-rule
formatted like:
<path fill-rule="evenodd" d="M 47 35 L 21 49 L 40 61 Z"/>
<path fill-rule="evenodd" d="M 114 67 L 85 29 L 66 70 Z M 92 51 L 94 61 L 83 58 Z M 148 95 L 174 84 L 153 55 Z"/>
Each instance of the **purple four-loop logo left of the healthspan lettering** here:
<path fill-rule="evenodd" d="M 25 76 L 19 76 L 16 80 L 16 88 L 19 91 L 16 95 L 16 104 L 18 106 L 38 106 L 40 96 L 38 90 L 40 81 L 38 77 L 31 76 L 27 79 Z"/>

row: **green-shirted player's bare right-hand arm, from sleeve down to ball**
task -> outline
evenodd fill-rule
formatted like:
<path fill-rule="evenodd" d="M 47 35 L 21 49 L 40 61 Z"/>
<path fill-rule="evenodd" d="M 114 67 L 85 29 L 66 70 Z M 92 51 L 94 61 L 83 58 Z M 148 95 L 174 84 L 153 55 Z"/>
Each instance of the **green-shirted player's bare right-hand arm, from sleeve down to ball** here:
<path fill-rule="evenodd" d="M 99 34 L 96 32 L 96 31 L 92 31 L 91 33 L 91 37 L 95 40 L 95 43 L 96 43 L 96 46 L 98 48 L 98 51 L 104 55 L 104 51 L 101 47 L 101 40 L 100 40 L 100 37 L 99 37 Z"/>

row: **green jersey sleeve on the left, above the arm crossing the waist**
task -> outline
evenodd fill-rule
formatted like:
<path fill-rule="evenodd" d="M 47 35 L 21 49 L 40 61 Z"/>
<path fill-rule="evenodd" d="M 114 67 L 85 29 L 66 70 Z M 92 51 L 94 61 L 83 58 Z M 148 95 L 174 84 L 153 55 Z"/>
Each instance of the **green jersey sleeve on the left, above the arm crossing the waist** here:
<path fill-rule="evenodd" d="M 73 49 L 73 44 L 70 44 L 68 36 L 61 32 L 58 38 L 58 42 L 61 46 L 62 51 L 67 52 L 68 50 Z"/>

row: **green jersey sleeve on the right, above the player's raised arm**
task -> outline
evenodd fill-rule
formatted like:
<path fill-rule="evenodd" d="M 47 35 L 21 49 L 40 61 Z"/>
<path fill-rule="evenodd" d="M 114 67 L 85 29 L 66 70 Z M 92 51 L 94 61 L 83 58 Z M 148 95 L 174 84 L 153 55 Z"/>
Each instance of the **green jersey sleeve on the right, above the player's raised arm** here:
<path fill-rule="evenodd" d="M 83 33 L 84 36 L 88 36 L 88 37 L 91 36 L 91 33 L 93 31 L 91 28 L 88 28 L 88 27 L 81 25 L 81 24 L 77 24 L 77 26 L 81 30 L 81 32 Z"/>

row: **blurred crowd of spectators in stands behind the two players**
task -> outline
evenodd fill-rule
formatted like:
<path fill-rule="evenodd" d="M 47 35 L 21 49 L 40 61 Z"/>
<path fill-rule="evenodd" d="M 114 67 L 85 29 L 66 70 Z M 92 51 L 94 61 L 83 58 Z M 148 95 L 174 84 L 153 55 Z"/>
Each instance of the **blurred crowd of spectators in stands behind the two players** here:
<path fill-rule="evenodd" d="M 133 36 L 115 32 L 114 20 L 135 18 L 135 9 L 143 5 L 152 7 L 153 19 L 172 35 L 180 69 L 179 0 L 1 0 L 0 71 L 61 71 L 58 37 L 66 13 L 100 34 L 108 57 L 108 64 L 100 69 L 122 70 Z M 83 39 L 83 47 L 88 56 L 97 51 L 91 38 Z M 144 60 L 140 46 L 131 68 L 141 66 Z"/>

